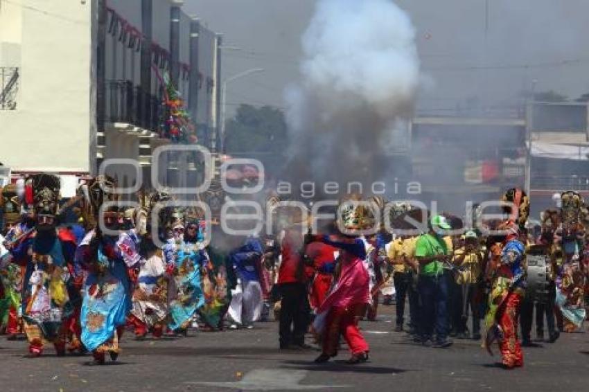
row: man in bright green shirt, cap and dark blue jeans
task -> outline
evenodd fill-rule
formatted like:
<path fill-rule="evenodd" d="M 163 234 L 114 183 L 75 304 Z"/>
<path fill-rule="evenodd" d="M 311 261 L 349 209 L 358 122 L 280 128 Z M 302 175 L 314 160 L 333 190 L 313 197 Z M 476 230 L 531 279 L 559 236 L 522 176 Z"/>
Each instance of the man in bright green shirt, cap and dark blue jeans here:
<path fill-rule="evenodd" d="M 448 339 L 448 287 L 443 275 L 443 262 L 449 260 L 448 244 L 441 237 L 442 230 L 449 230 L 446 218 L 435 215 L 430 219 L 430 231 L 421 235 L 415 246 L 419 261 L 418 290 L 421 299 L 421 344 L 430 345 L 436 332 L 434 347 L 444 348 L 452 344 Z"/>

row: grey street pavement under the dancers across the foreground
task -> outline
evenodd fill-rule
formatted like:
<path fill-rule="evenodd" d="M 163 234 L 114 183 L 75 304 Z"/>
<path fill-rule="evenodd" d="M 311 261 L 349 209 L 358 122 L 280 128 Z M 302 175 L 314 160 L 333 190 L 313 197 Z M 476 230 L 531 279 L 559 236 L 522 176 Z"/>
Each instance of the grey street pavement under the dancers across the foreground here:
<path fill-rule="evenodd" d="M 587 391 L 589 334 L 563 334 L 555 344 L 525 348 L 524 368 L 506 371 L 480 342 L 450 348 L 416 346 L 392 332 L 394 306 L 362 322 L 370 362 L 313 364 L 317 350 L 278 350 L 278 324 L 254 330 L 197 332 L 135 341 L 123 337 L 119 361 L 87 366 L 90 356 L 26 358 L 26 341 L 0 337 L 0 391 Z M 310 341 L 309 341 L 310 343 Z"/>

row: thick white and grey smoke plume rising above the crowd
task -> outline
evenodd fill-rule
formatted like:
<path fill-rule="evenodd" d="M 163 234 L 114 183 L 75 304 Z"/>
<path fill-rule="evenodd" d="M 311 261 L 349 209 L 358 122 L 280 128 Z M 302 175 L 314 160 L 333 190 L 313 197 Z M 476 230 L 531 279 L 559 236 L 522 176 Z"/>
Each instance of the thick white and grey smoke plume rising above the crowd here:
<path fill-rule="evenodd" d="M 411 116 L 421 79 L 410 18 L 389 0 L 319 0 L 302 46 L 302 82 L 286 93 L 287 174 L 380 178 L 376 156 Z"/>

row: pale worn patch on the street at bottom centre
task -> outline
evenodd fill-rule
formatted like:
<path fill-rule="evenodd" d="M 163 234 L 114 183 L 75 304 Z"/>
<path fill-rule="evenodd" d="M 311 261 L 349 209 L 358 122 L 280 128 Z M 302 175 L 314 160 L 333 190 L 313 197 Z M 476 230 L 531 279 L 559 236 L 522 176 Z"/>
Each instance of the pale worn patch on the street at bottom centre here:
<path fill-rule="evenodd" d="M 301 385 L 308 371 L 254 369 L 237 382 L 186 382 L 193 385 L 219 386 L 242 391 L 302 391 L 309 389 L 351 388 L 351 385 Z"/>

